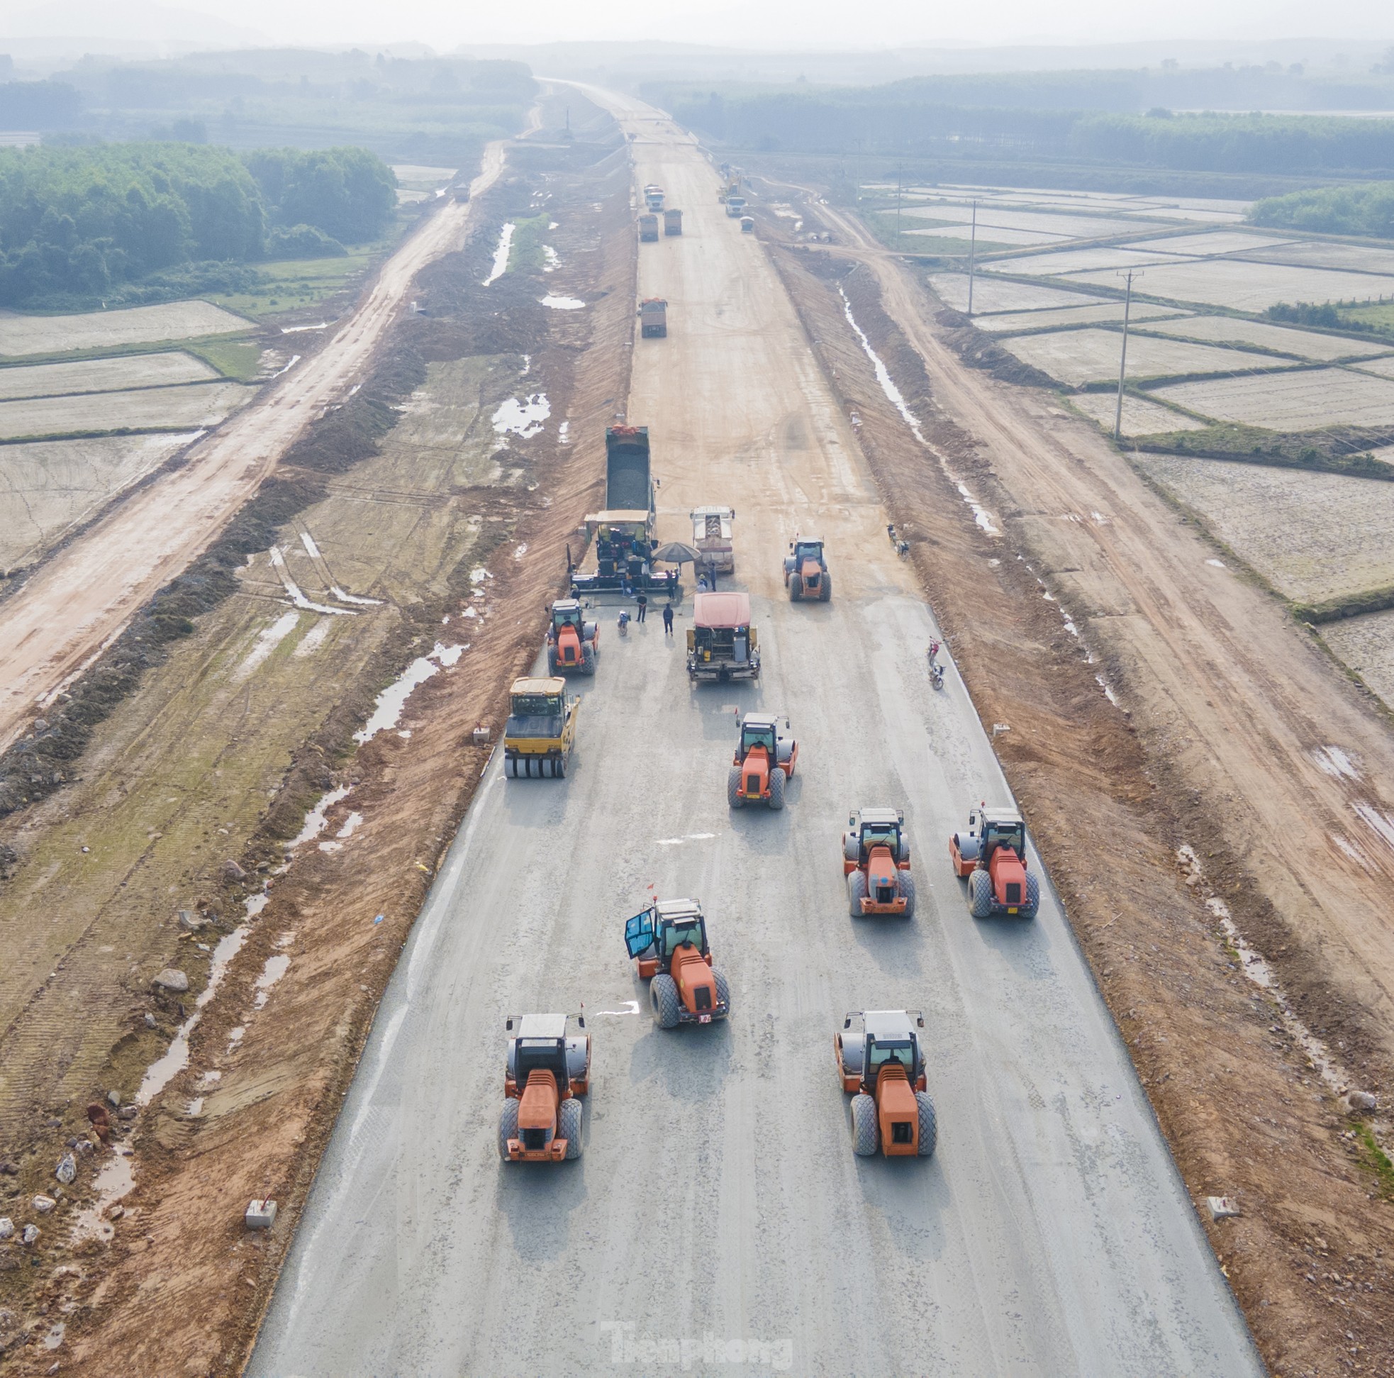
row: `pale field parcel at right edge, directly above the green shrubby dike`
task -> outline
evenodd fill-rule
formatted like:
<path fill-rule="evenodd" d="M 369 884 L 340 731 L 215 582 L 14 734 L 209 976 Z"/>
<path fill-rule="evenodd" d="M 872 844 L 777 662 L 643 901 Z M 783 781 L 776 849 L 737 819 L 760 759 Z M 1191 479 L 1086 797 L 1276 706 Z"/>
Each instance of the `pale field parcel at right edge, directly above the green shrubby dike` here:
<path fill-rule="evenodd" d="M 1394 425 L 1394 382 L 1347 368 L 1165 384 L 1154 395 L 1217 421 L 1276 431 Z"/>

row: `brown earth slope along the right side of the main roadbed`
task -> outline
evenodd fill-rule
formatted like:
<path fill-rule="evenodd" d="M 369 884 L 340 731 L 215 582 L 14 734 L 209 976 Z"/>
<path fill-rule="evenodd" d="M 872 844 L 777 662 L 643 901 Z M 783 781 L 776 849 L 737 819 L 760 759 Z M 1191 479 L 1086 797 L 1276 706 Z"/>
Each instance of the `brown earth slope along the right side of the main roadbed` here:
<path fill-rule="evenodd" d="M 772 252 L 857 418 L 898 534 L 1266 1361 L 1281 1375 L 1394 1371 L 1394 1174 L 1245 979 L 1206 907 L 1211 884 L 1236 908 L 1242 897 L 1227 883 L 1224 849 L 1206 844 L 1218 833 L 1199 792 L 1160 768 L 1105 697 L 1098 676 L 1108 682 L 1122 667 L 1090 661 L 1047 598 L 1011 520 L 1016 503 L 974 438 L 937 407 L 871 273 L 817 252 Z M 928 446 L 846 329 L 839 283 Z M 959 484 L 1004 534 L 974 520 Z M 1196 844 L 1197 869 L 1178 868 L 1184 842 Z M 1211 1220 L 1210 1195 L 1232 1198 L 1242 1215 Z"/>

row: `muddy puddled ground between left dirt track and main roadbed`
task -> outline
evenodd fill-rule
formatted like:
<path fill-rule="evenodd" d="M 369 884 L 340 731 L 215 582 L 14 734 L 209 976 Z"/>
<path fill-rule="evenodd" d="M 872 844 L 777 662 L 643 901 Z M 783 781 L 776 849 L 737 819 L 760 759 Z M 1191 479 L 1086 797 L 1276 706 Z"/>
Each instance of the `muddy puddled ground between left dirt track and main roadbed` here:
<path fill-rule="evenodd" d="M 354 397 L 110 649 L 110 672 L 88 676 L 105 696 L 79 679 L 26 743 L 31 777 L 53 724 L 71 755 L 67 780 L 0 826 L 0 1212 L 40 1230 L 0 1241 L 14 1372 L 224 1374 L 245 1358 L 489 759 L 471 729 L 498 725 L 533 661 L 601 484 L 612 409 L 585 399 L 627 388 L 626 151 L 567 103 L 585 151 L 534 151 L 526 180 L 480 198 L 466 248 L 418 278 L 429 314 L 393 328 Z M 482 287 L 499 226 L 538 195 L 562 268 Z M 549 290 L 587 308 L 546 311 Z M 493 418 L 535 392 L 549 425 L 500 434 Z M 369 736 L 383 690 L 421 661 L 435 671 Z M 40 1191 L 57 1205 L 35 1216 Z M 250 1234 L 243 1211 L 263 1195 L 276 1227 Z"/>

